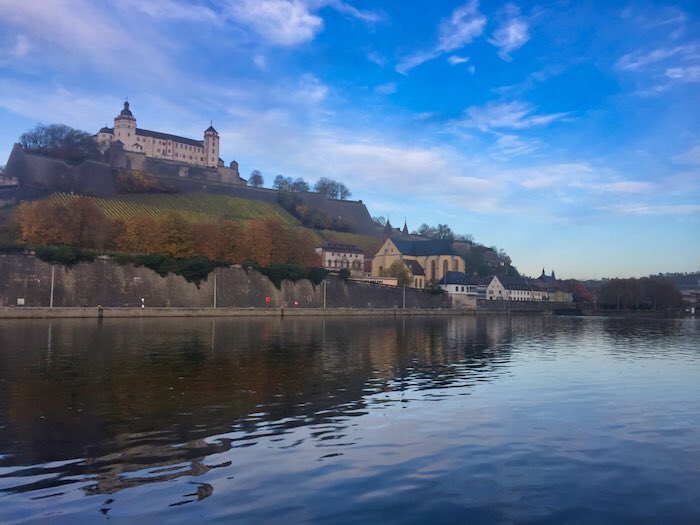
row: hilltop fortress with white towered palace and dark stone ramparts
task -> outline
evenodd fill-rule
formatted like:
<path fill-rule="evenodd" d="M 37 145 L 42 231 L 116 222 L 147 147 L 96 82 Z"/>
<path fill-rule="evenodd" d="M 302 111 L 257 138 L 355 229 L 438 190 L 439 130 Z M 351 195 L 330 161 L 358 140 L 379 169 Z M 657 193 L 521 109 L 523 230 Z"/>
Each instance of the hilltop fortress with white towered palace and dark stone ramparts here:
<path fill-rule="evenodd" d="M 63 192 L 95 197 L 133 193 L 211 193 L 280 204 L 280 192 L 252 188 L 241 178 L 238 163 L 219 158 L 219 134 L 210 125 L 202 140 L 137 127 L 129 103 L 114 119 L 114 127 L 95 134 L 100 155 L 78 164 L 25 151 L 15 144 L 5 166 L 14 181 L 0 189 L 0 202 L 41 198 Z M 362 201 L 328 199 L 319 193 L 294 193 L 297 204 L 349 225 L 357 233 L 377 235 Z"/>

